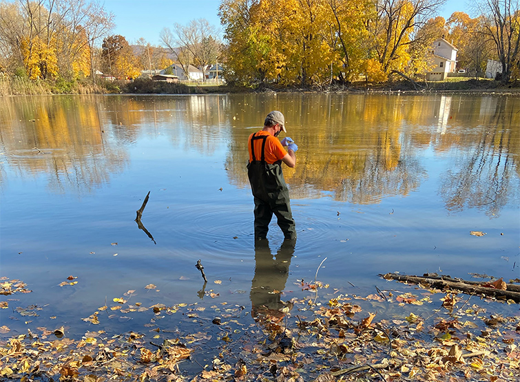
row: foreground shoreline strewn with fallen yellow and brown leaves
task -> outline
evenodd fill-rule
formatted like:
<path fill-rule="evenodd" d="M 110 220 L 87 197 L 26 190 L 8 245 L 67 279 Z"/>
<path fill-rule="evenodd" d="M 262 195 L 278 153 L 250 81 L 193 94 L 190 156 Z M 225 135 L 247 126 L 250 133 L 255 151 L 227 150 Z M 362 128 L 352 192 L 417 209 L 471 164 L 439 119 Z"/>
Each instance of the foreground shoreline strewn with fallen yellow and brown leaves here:
<path fill-rule="evenodd" d="M 26 290 L 25 283 L 6 277 L 2 286 L 12 293 Z M 420 286 L 366 297 L 340 294 L 320 282 L 299 282 L 298 286 L 309 296 L 294 297 L 278 310 L 253 307 L 251 315 L 244 306 L 219 301 L 214 291 L 206 292 L 214 304 L 204 308 L 131 304 L 128 300 L 135 290 L 129 290 L 123 297 L 114 297 L 116 305 L 100 307 L 83 319 L 90 322 L 90 330 L 77 339 L 67 337 L 63 327 L 52 330 L 30 328 L 30 324 L 27 334 L 9 336 L 8 326 L 3 325 L 0 380 L 466 378 L 495 382 L 520 378 L 520 318 L 494 312 L 500 304 L 512 301 L 479 300 Z M 327 297 L 315 303 L 317 293 Z M 107 317 L 118 319 L 129 312 L 146 311 L 153 312 L 153 317 L 142 332 L 110 333 L 103 328 L 107 317 L 98 319 L 105 310 Z M 183 319 L 171 330 L 160 321 L 167 315 Z"/>

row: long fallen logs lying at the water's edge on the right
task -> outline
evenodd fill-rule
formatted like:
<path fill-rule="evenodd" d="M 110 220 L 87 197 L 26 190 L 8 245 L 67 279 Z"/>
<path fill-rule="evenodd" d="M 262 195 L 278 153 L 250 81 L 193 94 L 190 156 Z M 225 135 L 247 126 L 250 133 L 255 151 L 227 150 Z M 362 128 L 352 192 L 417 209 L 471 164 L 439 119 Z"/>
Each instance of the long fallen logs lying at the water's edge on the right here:
<path fill-rule="evenodd" d="M 462 279 L 452 279 L 451 277 L 428 277 L 428 276 L 408 276 L 399 275 L 397 273 L 386 273 L 386 275 L 379 275 L 384 279 L 394 279 L 399 282 L 410 282 L 413 284 L 426 284 L 439 289 L 450 288 L 466 293 L 468 295 L 486 295 L 496 297 L 498 299 L 512 299 L 520 303 L 520 286 L 514 284 L 505 284 L 506 290 L 492 288 L 490 283 L 468 282 Z"/>

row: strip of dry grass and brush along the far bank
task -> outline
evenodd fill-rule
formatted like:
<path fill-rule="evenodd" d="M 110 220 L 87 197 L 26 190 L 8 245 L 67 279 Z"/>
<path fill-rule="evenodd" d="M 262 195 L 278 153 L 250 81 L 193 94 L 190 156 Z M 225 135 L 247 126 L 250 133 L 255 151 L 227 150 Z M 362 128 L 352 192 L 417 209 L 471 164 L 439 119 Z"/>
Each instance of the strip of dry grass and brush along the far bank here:
<path fill-rule="evenodd" d="M 481 94 L 520 94 L 520 82 L 504 84 L 501 81 L 483 78 L 448 78 L 446 81 L 395 81 L 387 83 L 367 83 L 356 81 L 348 85 L 327 84 L 312 87 L 284 87 L 276 83 L 260 83 L 249 87 L 234 85 L 206 85 L 154 82 L 147 78 L 134 81 L 92 82 L 89 79 L 66 81 L 59 78 L 50 80 L 30 80 L 28 78 L 0 77 L 0 96 L 37 96 L 51 94 L 215 94 L 215 93 L 360 93 L 360 92 L 406 92 L 424 94 L 431 92 L 472 92 Z"/>

